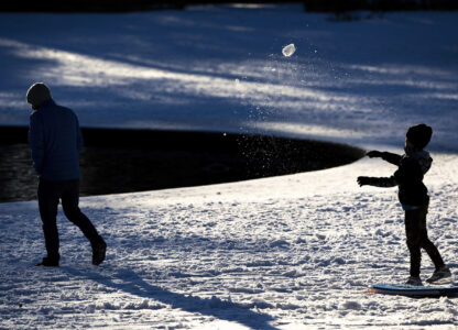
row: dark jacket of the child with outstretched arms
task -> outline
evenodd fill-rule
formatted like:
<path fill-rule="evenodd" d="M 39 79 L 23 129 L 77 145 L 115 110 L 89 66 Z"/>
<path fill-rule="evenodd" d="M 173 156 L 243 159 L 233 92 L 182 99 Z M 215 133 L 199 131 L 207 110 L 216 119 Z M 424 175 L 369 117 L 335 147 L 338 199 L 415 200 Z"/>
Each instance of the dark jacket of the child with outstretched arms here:
<path fill-rule="evenodd" d="M 426 151 L 405 150 L 402 156 L 384 152 L 382 160 L 397 165 L 397 170 L 391 177 L 373 178 L 372 185 L 378 187 L 399 186 L 399 199 L 404 206 L 427 206 L 428 189 L 423 184 L 423 176 L 428 172 L 433 158 Z"/>

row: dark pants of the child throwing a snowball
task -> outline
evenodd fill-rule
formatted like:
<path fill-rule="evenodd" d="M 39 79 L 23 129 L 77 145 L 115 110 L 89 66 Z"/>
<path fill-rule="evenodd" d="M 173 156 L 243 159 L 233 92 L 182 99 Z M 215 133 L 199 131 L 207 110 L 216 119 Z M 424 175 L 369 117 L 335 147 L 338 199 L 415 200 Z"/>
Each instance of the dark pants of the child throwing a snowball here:
<path fill-rule="evenodd" d="M 405 233 L 407 237 L 407 248 L 411 253 L 411 276 L 415 277 L 419 276 L 419 265 L 422 261 L 421 249 L 425 249 L 436 270 L 444 266 L 444 261 L 439 251 L 428 239 L 426 230 L 427 212 L 427 206 L 405 211 Z"/>

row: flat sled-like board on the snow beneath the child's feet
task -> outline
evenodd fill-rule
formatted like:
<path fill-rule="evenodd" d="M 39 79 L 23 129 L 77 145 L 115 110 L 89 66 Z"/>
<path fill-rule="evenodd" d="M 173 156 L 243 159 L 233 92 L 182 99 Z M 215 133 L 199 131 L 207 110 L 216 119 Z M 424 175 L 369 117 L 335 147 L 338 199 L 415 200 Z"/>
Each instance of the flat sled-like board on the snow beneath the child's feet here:
<path fill-rule="evenodd" d="M 458 286 L 416 286 L 408 284 L 374 284 L 369 288 L 371 294 L 397 295 L 407 297 L 456 297 Z"/>

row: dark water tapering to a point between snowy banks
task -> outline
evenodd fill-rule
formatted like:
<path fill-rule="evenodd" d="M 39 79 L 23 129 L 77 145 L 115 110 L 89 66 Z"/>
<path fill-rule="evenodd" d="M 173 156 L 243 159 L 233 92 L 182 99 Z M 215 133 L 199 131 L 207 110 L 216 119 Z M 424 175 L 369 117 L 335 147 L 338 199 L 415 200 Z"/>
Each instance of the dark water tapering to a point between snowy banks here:
<path fill-rule="evenodd" d="M 26 128 L 0 128 L 0 202 L 36 199 Z M 83 129 L 80 195 L 208 185 L 339 166 L 363 151 L 274 136 Z"/>

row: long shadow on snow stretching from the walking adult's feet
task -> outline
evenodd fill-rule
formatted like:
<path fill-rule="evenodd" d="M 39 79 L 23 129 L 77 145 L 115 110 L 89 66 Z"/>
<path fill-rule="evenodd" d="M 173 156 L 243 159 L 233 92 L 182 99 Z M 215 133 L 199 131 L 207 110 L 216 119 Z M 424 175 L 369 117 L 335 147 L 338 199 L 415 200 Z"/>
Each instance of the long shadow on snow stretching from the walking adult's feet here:
<path fill-rule="evenodd" d="M 230 300 L 221 300 L 217 297 L 200 298 L 170 292 L 160 286 L 151 285 L 137 275 L 135 272 L 120 268 L 113 276 L 106 276 L 100 273 L 81 272 L 72 267 L 62 266 L 62 271 L 78 277 L 97 282 L 101 285 L 122 290 L 124 293 L 154 299 L 174 309 L 182 309 L 187 312 L 198 312 L 211 316 L 220 320 L 238 322 L 252 329 L 276 330 L 277 328 L 269 324 L 274 318 L 268 314 L 251 310 L 251 304 L 242 305 Z"/>

